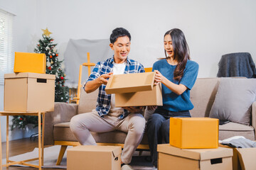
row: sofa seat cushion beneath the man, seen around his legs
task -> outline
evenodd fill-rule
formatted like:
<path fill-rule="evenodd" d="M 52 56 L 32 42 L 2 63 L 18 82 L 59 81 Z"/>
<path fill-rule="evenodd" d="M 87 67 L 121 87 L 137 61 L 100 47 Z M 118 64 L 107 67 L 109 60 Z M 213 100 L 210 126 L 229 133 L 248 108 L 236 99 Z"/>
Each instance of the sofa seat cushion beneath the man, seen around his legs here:
<path fill-rule="evenodd" d="M 76 140 L 73 132 L 70 130 L 70 122 L 67 123 L 58 123 L 54 125 L 53 129 L 53 139 L 55 141 L 78 141 Z M 119 130 L 115 130 L 112 132 L 91 132 L 92 136 L 95 138 L 96 142 L 100 143 L 121 143 L 124 144 L 124 140 L 127 136 L 126 132 L 122 132 Z M 142 138 L 141 144 L 148 144 L 146 133 L 144 133 L 144 137 Z"/>

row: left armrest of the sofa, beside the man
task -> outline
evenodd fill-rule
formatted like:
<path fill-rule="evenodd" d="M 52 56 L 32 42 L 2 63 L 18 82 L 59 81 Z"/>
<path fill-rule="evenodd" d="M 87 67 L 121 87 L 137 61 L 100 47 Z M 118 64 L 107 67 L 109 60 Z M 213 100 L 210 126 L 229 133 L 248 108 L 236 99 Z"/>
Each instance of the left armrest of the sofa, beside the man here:
<path fill-rule="evenodd" d="M 46 113 L 44 144 L 54 145 L 53 127 L 57 123 L 69 122 L 78 113 L 78 105 L 74 103 L 54 103 L 54 111 Z"/>

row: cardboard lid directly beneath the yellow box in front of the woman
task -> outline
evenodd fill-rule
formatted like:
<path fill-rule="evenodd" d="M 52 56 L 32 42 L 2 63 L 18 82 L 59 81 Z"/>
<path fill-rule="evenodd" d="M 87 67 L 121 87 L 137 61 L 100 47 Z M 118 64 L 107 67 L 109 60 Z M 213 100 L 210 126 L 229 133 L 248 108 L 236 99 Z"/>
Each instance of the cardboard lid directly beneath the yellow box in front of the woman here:
<path fill-rule="evenodd" d="M 218 147 L 217 149 L 180 149 L 169 144 L 157 145 L 157 152 L 196 160 L 207 160 L 233 156 L 233 149 L 224 147 Z"/>

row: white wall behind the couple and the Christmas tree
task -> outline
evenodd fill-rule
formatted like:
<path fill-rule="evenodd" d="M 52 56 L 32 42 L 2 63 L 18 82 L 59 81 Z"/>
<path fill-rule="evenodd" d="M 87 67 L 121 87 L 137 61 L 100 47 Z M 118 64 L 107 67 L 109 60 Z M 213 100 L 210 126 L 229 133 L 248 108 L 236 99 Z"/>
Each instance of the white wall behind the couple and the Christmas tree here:
<path fill-rule="evenodd" d="M 164 57 L 164 33 L 180 28 L 198 77 L 216 77 L 221 55 L 230 52 L 250 52 L 256 62 L 254 0 L 0 0 L 1 6 L 16 14 L 16 51 L 33 52 L 41 28 L 53 33 L 63 58 L 70 38 L 109 38 L 124 27 L 132 34 L 129 57 L 151 67 Z"/>

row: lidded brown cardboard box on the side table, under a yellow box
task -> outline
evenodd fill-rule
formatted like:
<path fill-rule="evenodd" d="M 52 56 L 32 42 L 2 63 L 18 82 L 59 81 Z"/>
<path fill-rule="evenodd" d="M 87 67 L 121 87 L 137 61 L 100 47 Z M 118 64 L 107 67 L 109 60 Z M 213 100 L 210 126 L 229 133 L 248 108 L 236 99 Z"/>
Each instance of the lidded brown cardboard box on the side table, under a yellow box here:
<path fill-rule="evenodd" d="M 55 75 L 4 74 L 4 111 L 54 111 Z"/>

